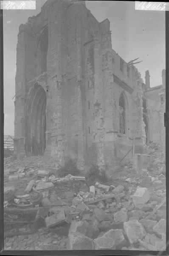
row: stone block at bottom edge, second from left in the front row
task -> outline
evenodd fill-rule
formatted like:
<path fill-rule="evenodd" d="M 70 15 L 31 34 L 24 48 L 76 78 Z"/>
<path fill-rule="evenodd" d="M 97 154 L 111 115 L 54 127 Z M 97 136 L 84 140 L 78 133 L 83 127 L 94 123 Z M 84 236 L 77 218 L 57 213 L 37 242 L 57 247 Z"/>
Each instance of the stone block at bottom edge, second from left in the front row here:
<path fill-rule="evenodd" d="M 94 250 L 115 250 L 115 242 L 109 236 L 94 239 Z"/>

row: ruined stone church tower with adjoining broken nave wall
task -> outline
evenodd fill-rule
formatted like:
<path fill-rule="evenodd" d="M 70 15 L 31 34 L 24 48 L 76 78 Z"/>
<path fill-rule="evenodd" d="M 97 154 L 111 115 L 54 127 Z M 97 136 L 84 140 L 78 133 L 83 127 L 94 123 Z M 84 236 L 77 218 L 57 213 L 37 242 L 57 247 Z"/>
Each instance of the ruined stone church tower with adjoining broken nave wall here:
<path fill-rule="evenodd" d="M 111 169 L 148 132 L 141 74 L 113 49 L 85 1 L 48 0 L 19 27 L 14 155 Z M 132 151 L 127 155 L 132 158 Z"/>

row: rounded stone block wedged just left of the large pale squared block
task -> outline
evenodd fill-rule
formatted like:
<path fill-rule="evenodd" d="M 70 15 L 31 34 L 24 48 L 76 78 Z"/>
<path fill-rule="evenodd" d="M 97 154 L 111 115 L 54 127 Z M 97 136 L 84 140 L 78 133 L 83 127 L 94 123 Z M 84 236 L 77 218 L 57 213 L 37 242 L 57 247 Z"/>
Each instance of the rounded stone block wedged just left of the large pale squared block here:
<path fill-rule="evenodd" d="M 117 250 L 121 249 L 121 247 L 127 244 L 122 229 L 109 230 L 104 234 L 104 236 L 108 236 L 113 239 L 113 241 L 115 242 L 115 249 Z"/>

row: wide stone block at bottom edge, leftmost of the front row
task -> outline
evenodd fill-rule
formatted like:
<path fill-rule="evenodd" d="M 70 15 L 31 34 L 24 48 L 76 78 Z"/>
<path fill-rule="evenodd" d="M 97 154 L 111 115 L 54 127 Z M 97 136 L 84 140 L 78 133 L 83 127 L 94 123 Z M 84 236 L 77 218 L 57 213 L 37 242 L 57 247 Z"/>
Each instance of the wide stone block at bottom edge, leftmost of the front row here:
<path fill-rule="evenodd" d="M 75 232 L 68 234 L 67 250 L 93 250 L 93 239 Z"/>

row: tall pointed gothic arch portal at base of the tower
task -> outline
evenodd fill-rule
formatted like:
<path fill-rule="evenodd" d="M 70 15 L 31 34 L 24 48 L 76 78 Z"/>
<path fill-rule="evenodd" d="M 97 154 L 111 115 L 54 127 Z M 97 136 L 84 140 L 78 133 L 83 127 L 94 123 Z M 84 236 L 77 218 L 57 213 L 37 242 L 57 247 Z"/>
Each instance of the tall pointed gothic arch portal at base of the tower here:
<path fill-rule="evenodd" d="M 39 84 L 29 94 L 26 111 L 25 151 L 27 155 L 42 155 L 46 147 L 46 93 Z"/>

